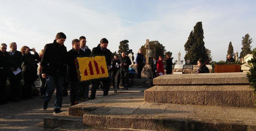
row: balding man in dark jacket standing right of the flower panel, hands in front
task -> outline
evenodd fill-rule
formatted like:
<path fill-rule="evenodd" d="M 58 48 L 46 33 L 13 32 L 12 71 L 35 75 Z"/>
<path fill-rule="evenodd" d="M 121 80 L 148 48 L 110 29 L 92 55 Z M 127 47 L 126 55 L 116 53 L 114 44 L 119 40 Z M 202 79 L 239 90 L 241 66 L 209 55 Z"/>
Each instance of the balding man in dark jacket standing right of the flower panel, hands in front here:
<path fill-rule="evenodd" d="M 121 66 L 121 77 L 123 83 L 123 89 L 128 90 L 129 86 L 129 65 L 131 65 L 131 60 L 128 56 L 126 56 L 125 52 L 122 53 L 122 57 L 120 59 Z"/>

